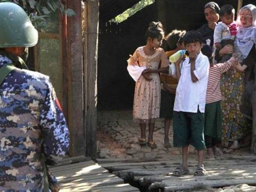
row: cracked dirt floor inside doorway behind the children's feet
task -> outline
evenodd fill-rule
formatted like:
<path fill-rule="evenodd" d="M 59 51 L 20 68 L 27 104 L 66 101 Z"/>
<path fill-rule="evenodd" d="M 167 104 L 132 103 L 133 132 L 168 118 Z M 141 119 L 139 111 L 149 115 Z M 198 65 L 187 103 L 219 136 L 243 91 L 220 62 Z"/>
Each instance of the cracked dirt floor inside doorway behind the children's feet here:
<path fill-rule="evenodd" d="M 179 148 L 164 148 L 163 119 L 155 123 L 154 140 L 157 149 L 148 146 L 141 147 L 137 138 L 140 137 L 140 128 L 137 122 L 132 119 L 132 111 L 98 111 L 97 116 L 97 147 L 101 158 L 143 158 L 143 157 L 169 157 L 180 155 Z M 169 131 L 169 140 L 172 145 L 172 122 Z M 173 145 L 172 145 L 173 146 Z M 225 151 L 226 150 L 223 150 Z M 196 154 L 193 147 L 189 149 L 190 154 Z M 221 153 L 220 153 L 221 154 Z M 221 154 L 224 157 L 250 155 L 250 148 L 240 148 L 230 153 Z"/>

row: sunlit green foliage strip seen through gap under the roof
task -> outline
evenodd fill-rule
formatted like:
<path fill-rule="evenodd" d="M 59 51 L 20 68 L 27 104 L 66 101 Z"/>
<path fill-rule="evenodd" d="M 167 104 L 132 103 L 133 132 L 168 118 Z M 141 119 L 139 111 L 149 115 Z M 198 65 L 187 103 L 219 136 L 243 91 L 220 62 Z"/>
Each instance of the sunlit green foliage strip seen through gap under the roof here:
<path fill-rule="evenodd" d="M 140 2 L 136 3 L 131 8 L 127 9 L 125 12 L 123 12 L 120 15 L 117 15 L 115 18 L 111 19 L 110 22 L 114 23 L 121 23 L 124 20 L 128 19 L 128 17 L 131 17 L 136 12 L 140 11 L 141 9 L 145 8 L 146 6 L 151 5 L 154 3 L 155 0 L 141 0 Z"/>

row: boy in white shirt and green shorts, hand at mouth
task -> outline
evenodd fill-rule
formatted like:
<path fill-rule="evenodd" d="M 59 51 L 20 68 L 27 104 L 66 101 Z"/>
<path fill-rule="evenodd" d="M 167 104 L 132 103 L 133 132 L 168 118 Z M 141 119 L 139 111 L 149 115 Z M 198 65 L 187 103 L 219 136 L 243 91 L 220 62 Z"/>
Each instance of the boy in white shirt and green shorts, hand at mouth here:
<path fill-rule="evenodd" d="M 182 164 L 172 175 L 181 176 L 189 173 L 188 150 L 193 145 L 198 151 L 198 167 L 194 175 L 206 175 L 204 169 L 204 108 L 209 73 L 209 60 L 201 53 L 203 37 L 196 31 L 187 32 L 183 38 L 189 57 L 175 63 L 175 73 L 179 78 L 174 112 L 173 144 L 182 147 Z"/>

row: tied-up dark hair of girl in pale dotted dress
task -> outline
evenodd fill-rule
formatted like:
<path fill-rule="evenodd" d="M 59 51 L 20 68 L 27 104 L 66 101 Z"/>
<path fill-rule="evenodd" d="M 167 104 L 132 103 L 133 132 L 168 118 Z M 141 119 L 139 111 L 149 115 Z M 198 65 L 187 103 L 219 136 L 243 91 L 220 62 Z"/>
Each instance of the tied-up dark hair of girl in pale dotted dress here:
<path fill-rule="evenodd" d="M 152 21 L 151 23 L 149 23 L 148 29 L 145 33 L 146 41 L 148 40 L 148 38 L 160 39 L 160 38 L 163 38 L 163 36 L 164 36 L 164 30 L 161 22 Z"/>

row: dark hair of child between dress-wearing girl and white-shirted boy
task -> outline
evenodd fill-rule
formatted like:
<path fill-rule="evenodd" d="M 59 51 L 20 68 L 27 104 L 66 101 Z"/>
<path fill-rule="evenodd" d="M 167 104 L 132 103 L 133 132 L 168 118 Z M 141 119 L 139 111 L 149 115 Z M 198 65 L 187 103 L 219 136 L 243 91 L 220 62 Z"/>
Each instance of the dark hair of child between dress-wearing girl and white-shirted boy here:
<path fill-rule="evenodd" d="M 173 30 L 166 36 L 166 41 L 168 46 L 171 50 L 175 49 L 177 47 L 177 43 L 182 44 L 183 43 L 183 37 L 186 34 L 186 31 L 183 30 Z"/>

